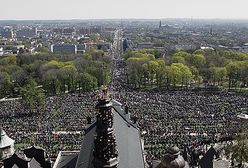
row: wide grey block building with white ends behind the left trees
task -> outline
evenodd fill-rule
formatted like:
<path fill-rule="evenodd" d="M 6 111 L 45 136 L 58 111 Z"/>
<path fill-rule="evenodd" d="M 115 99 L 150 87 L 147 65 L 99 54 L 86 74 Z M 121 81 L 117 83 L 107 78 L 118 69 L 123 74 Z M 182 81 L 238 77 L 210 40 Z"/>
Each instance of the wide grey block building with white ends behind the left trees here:
<path fill-rule="evenodd" d="M 77 46 L 74 44 L 54 44 L 51 46 L 51 52 L 77 54 Z"/>

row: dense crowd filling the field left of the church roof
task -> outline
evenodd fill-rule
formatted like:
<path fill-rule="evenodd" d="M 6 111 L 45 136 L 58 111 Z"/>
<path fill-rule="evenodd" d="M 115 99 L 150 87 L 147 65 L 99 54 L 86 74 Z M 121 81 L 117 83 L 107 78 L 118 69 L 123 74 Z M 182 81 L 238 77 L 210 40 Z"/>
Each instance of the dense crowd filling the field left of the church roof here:
<path fill-rule="evenodd" d="M 60 150 L 78 150 L 95 115 L 96 93 L 68 94 L 46 99 L 45 110 L 30 111 L 21 100 L 0 102 L 0 123 L 17 147 L 38 145 L 49 157 Z"/>

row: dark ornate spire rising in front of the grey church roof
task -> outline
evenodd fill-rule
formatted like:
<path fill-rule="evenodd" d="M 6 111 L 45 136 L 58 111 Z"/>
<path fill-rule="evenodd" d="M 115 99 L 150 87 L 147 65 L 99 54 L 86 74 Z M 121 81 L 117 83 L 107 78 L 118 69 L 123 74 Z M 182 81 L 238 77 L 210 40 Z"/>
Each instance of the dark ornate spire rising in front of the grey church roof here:
<path fill-rule="evenodd" d="M 118 152 L 113 128 L 112 103 L 107 90 L 103 90 L 102 94 L 96 105 L 98 113 L 93 165 L 95 168 L 117 168 Z"/>

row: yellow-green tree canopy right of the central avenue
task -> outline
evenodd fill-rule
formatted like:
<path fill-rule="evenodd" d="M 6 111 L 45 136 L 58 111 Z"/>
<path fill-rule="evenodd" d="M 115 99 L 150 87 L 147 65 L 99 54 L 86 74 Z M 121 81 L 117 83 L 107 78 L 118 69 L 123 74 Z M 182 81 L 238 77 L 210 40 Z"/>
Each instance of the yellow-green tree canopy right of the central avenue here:
<path fill-rule="evenodd" d="M 187 87 L 192 84 L 229 89 L 248 87 L 246 53 L 212 49 L 199 49 L 192 53 L 178 50 L 169 57 L 159 58 L 155 53 L 149 49 L 125 52 L 127 81 L 131 87 Z"/>

